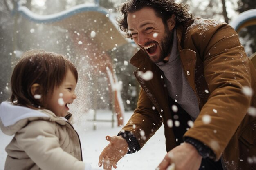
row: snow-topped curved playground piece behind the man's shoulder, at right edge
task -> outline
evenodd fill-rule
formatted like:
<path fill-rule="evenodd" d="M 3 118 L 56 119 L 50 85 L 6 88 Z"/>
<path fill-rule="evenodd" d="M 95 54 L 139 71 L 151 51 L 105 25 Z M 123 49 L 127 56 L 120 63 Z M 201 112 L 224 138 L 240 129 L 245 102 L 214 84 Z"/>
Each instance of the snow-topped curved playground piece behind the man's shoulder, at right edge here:
<path fill-rule="evenodd" d="M 256 9 L 250 9 L 240 13 L 237 18 L 230 22 L 230 25 L 239 33 L 242 28 L 256 25 Z M 249 56 L 249 59 L 256 68 L 256 52 Z"/>

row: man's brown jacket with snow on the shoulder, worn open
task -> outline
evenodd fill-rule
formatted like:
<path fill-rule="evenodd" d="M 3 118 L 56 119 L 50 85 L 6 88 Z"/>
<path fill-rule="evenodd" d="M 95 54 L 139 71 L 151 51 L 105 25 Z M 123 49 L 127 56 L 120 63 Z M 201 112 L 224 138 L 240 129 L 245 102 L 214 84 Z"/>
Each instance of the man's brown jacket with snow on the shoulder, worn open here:
<path fill-rule="evenodd" d="M 193 18 L 177 25 L 178 50 L 187 81 L 198 98 L 200 114 L 184 137 L 206 144 L 228 170 L 256 167 L 256 71 L 238 35 L 228 24 Z M 132 132 L 142 147 L 164 124 L 166 150 L 176 146 L 168 91 L 160 69 L 144 51 L 130 60 L 141 85 L 137 108 L 123 130 Z M 145 81 L 138 71 L 152 71 Z M 254 92 L 249 93 L 250 88 Z M 203 121 L 211 117 L 210 123 Z M 254 116 L 252 116 L 254 115 Z M 134 126 L 135 125 L 135 126 Z M 141 133 L 141 130 L 145 132 Z"/>

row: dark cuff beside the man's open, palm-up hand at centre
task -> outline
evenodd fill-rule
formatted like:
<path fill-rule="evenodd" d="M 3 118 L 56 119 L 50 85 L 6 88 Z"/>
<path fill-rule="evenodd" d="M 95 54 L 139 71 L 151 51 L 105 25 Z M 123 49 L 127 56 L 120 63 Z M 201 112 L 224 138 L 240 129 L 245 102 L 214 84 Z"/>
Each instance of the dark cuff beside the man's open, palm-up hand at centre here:
<path fill-rule="evenodd" d="M 140 150 L 140 145 L 136 137 L 130 131 L 119 132 L 117 136 L 123 137 L 128 144 L 128 154 L 135 153 Z"/>

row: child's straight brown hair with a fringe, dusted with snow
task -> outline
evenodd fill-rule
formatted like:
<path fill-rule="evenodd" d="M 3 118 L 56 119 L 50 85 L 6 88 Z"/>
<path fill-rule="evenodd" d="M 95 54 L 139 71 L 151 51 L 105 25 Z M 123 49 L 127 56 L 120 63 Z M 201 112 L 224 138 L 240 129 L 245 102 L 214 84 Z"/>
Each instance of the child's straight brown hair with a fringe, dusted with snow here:
<path fill-rule="evenodd" d="M 29 108 L 45 108 L 47 96 L 61 85 L 69 69 L 77 82 L 76 67 L 63 55 L 43 50 L 25 52 L 11 76 L 11 102 Z M 35 99 L 31 93 L 31 86 L 36 83 L 40 85 L 37 92 L 40 99 Z"/>

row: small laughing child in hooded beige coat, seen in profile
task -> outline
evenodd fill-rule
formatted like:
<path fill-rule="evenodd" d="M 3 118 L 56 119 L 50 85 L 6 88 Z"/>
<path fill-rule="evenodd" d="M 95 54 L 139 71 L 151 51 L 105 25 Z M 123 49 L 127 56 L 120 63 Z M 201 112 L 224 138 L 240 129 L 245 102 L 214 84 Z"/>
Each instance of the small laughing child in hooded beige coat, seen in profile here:
<path fill-rule="evenodd" d="M 62 55 L 25 52 L 11 77 L 11 102 L 0 106 L 0 127 L 14 135 L 5 170 L 91 170 L 79 136 L 67 121 L 78 74 Z"/>

